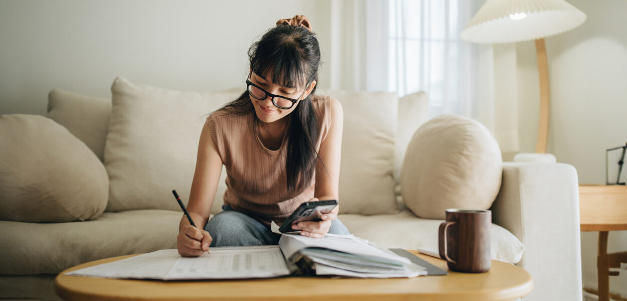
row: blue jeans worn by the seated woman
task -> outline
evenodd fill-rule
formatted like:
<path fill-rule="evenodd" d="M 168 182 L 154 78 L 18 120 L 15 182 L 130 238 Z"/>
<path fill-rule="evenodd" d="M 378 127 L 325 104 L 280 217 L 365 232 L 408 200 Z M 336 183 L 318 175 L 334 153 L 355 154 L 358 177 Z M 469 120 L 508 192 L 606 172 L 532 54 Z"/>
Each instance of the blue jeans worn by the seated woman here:
<path fill-rule="evenodd" d="M 272 233 L 262 223 L 251 216 L 236 211 L 229 205 L 222 206 L 223 211 L 209 219 L 204 226 L 213 240 L 210 246 L 260 246 L 277 245 L 281 235 Z M 331 221 L 331 234 L 348 235 L 349 230 L 339 219 Z"/>

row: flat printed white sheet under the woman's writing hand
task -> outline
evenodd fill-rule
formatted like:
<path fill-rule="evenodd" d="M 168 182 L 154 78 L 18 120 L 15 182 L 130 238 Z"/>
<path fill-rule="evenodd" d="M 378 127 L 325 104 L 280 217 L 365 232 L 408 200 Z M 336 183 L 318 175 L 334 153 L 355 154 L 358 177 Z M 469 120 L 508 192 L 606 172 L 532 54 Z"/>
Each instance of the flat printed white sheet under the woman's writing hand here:
<path fill-rule="evenodd" d="M 277 245 L 210 248 L 211 254 L 182 257 L 177 250 L 160 250 L 66 275 L 140 279 L 266 278 L 289 275 Z"/>

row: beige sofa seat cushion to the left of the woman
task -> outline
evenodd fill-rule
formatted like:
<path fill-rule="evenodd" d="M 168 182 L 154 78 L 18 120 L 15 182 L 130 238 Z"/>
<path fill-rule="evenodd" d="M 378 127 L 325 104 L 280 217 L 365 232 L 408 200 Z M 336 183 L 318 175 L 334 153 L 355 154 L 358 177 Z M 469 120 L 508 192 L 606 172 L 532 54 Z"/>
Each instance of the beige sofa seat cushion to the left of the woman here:
<path fill-rule="evenodd" d="M 176 249 L 180 210 L 105 212 L 74 223 L 0 221 L 0 241 L 11 246 L 0 248 L 0 274 L 59 273 L 87 261 Z"/>

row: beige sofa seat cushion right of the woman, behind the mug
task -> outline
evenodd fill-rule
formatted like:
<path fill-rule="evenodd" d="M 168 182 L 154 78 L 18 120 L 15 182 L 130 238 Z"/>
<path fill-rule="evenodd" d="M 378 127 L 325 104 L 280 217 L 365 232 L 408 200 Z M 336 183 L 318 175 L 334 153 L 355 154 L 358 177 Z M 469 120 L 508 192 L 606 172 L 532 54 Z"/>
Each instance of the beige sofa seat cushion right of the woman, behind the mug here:
<path fill-rule="evenodd" d="M 384 248 L 416 250 L 426 247 L 438 249 L 438 227 L 443 219 L 416 218 L 411 211 L 398 214 L 362 216 L 340 214 L 338 218 L 350 233 Z M 492 224 L 490 228 L 492 259 L 517 263 L 522 258 L 524 246 L 510 231 Z"/>

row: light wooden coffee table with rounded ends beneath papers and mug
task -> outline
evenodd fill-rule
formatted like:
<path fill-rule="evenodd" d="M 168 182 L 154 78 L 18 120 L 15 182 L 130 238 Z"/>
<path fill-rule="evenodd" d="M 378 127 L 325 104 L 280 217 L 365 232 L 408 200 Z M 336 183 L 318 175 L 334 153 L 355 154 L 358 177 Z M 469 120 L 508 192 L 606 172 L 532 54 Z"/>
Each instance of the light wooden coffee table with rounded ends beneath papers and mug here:
<path fill-rule="evenodd" d="M 448 270 L 446 261 L 410 251 Z M 139 254 L 138 254 L 139 255 Z M 91 261 L 68 268 L 55 279 L 65 300 L 512 300 L 531 292 L 522 268 L 492 260 L 487 273 L 416 278 L 356 279 L 282 277 L 247 280 L 127 280 L 65 275 L 66 272 L 137 255 Z"/>

